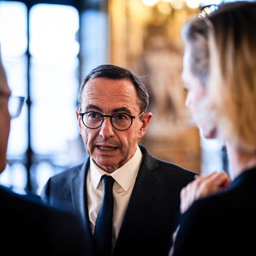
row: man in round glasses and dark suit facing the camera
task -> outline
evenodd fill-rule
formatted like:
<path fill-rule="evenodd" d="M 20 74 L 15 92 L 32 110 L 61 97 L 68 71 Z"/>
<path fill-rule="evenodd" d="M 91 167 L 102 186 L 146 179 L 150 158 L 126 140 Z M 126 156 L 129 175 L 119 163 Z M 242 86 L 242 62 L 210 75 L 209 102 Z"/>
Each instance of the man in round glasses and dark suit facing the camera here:
<path fill-rule="evenodd" d="M 98 66 L 80 88 L 76 116 L 89 158 L 50 178 L 41 198 L 78 216 L 92 254 L 167 255 L 171 247 L 180 191 L 194 173 L 137 145 L 152 117 L 147 107 L 145 85 L 118 66 Z M 105 180 L 112 180 L 110 189 Z M 106 200 L 113 204 L 111 214 L 103 211 Z M 101 236 L 107 226 L 106 242 Z"/>

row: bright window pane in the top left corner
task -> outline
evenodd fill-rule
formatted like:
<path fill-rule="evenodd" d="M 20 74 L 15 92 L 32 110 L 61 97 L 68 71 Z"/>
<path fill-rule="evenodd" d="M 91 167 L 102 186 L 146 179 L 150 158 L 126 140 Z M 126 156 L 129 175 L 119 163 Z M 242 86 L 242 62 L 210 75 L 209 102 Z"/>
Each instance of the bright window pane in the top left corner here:
<path fill-rule="evenodd" d="M 27 50 L 27 7 L 0 1 L 0 41 L 3 56 L 22 56 Z"/>

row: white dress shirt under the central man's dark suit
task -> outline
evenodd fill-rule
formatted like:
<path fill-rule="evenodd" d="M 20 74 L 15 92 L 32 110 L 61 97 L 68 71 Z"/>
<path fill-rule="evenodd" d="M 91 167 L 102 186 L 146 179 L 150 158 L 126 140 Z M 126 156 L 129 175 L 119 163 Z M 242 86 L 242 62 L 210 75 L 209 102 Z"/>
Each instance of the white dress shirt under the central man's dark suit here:
<path fill-rule="evenodd" d="M 90 167 L 87 175 L 87 200 L 92 233 L 94 233 L 95 222 L 103 200 L 101 176 L 107 174 L 112 176 L 115 180 L 113 185 L 114 210 L 112 248 L 114 244 L 116 244 L 116 239 L 119 235 L 124 213 L 126 212 L 141 162 L 142 152 L 139 146 L 137 146 L 132 158 L 111 174 L 103 171 L 103 169 L 98 167 L 94 160 L 90 158 Z"/>

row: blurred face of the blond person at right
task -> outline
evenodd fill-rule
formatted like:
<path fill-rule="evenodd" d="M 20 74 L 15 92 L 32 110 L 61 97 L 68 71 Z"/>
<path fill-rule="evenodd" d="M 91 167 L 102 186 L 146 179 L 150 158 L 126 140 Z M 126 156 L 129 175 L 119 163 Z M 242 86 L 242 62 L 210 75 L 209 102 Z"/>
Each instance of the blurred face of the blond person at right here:
<path fill-rule="evenodd" d="M 185 84 L 185 89 L 187 91 L 187 98 L 185 100 L 185 105 L 190 108 L 191 113 L 196 121 L 197 126 L 199 126 L 203 136 L 206 138 L 216 137 L 216 127 L 213 126 L 211 120 L 211 113 L 207 112 L 207 95 L 206 88 L 201 83 L 200 79 L 193 75 L 190 66 L 190 46 L 185 48 L 185 54 L 183 59 L 183 81 Z"/>

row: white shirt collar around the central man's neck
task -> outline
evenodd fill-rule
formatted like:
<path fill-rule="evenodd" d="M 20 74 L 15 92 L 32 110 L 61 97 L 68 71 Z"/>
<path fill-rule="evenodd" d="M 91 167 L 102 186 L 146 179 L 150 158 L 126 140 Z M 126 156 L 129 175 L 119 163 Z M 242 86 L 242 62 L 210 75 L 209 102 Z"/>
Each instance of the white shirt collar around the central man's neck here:
<path fill-rule="evenodd" d="M 103 171 L 103 169 L 98 167 L 98 165 L 95 164 L 94 160 L 90 157 L 90 176 L 94 189 L 98 187 L 101 177 L 108 174 L 112 176 L 117 183 L 119 183 L 124 191 L 127 191 L 137 177 L 137 172 L 139 171 L 141 162 L 142 152 L 140 151 L 138 145 L 132 158 L 111 174 L 108 174 L 107 172 Z"/>

